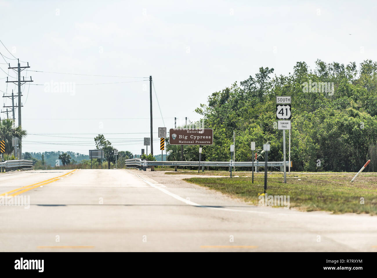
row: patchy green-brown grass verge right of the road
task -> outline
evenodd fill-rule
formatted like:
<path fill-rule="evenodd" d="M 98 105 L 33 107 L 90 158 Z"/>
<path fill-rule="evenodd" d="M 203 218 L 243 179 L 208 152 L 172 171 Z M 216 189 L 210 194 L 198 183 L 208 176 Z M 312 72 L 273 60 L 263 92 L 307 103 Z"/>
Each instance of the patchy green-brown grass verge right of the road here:
<path fill-rule="evenodd" d="M 208 172 L 210 171 L 207 171 L 207 175 Z M 246 173 L 247 178 L 236 172 L 239 178 L 194 177 L 184 180 L 257 204 L 258 193 L 264 192 L 264 174 L 255 173 L 252 184 L 250 172 Z M 351 183 L 354 175 L 355 173 L 320 175 L 291 172 L 291 175 L 287 175 L 287 184 L 284 184 L 282 174 L 273 173 L 268 174 L 266 192 L 268 195 L 290 196 L 290 207 L 299 210 L 377 215 L 377 173 L 362 173 Z M 360 198 L 364 198 L 364 204 L 360 204 Z"/>

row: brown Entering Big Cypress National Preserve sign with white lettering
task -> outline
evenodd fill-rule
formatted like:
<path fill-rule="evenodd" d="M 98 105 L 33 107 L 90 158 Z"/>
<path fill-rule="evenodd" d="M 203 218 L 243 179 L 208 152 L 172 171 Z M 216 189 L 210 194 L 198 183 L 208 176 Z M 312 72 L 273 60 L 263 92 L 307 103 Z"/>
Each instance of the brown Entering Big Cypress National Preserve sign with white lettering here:
<path fill-rule="evenodd" d="M 187 129 L 171 128 L 169 144 L 171 145 L 212 145 L 213 130 L 211 128 Z"/>

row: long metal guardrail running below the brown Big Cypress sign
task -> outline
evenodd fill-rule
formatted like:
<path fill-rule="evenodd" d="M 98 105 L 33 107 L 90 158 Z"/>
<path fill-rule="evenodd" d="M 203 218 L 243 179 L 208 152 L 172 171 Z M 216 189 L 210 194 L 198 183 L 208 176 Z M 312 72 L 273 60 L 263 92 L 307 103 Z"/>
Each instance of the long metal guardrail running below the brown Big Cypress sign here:
<path fill-rule="evenodd" d="M 284 161 L 268 161 L 268 167 L 283 167 Z M 288 161 L 285 162 L 286 167 L 288 167 Z M 199 161 L 146 161 L 140 158 L 126 159 L 126 166 L 199 166 Z M 216 167 L 252 167 L 253 162 L 230 162 L 230 161 L 201 161 L 200 166 L 216 166 Z M 254 167 L 264 167 L 264 161 L 254 162 Z"/>

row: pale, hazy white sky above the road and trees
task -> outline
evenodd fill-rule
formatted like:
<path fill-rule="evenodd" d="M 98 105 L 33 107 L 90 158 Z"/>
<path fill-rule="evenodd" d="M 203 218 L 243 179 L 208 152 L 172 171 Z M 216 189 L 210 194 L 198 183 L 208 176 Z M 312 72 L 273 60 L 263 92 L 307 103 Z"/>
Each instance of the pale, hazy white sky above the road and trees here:
<path fill-rule="evenodd" d="M 14 57 L 21 66 L 29 62 L 21 74 L 33 80 L 22 86 L 22 127 L 28 131 L 23 152 L 89 154 L 93 138 L 104 134 L 119 151 L 140 154 L 143 138 L 150 137 L 152 76 L 156 155 L 158 127 L 173 128 L 174 117 L 177 125 L 185 117 L 200 119 L 195 108 L 210 94 L 262 66 L 279 75 L 292 72 L 298 61 L 313 69 L 317 59 L 377 60 L 376 5 L 0 0 L 0 53 L 5 56 L 0 56 L 0 90 L 17 92 L 5 82 L 8 74 L 16 80 L 5 63 L 17 66 Z M 3 99 L 11 105 L 11 99 Z"/>

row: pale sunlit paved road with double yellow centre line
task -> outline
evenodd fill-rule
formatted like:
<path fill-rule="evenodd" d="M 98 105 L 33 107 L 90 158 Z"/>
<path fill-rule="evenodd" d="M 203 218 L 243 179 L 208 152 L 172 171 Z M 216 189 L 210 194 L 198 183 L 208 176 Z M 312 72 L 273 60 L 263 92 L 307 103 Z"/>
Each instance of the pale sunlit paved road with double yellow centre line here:
<path fill-rule="evenodd" d="M 377 217 L 245 204 L 181 180 L 124 169 L 0 175 L 0 251 L 377 251 Z M 21 188 L 21 189 L 19 189 Z"/>

